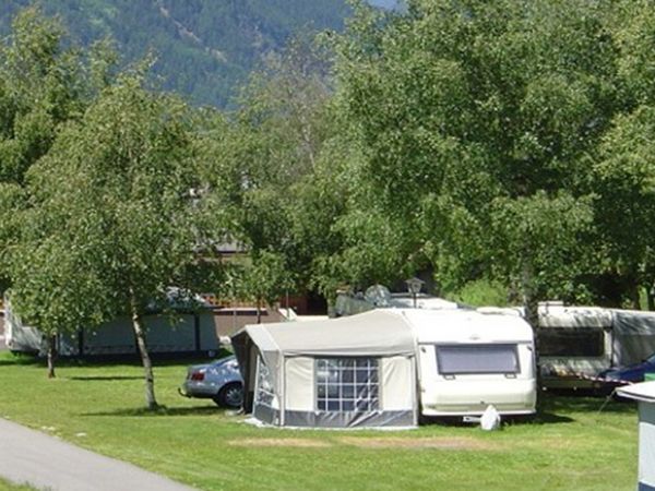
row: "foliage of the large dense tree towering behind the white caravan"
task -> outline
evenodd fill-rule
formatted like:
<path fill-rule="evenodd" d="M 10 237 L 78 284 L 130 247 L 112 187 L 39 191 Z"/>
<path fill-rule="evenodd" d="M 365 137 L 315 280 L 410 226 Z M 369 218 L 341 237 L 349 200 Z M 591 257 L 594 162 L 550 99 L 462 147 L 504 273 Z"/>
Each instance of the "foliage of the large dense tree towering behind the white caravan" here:
<path fill-rule="evenodd" d="M 373 266 L 388 277 L 433 268 L 446 291 L 492 277 L 526 301 L 590 299 L 585 282 L 606 271 L 592 163 L 634 105 L 626 74 L 641 69 L 624 51 L 650 25 L 612 5 L 360 7 L 338 40 L 342 132 L 361 151 L 341 220 L 360 252 L 347 271 L 365 279 Z M 372 229 L 395 233 L 380 249 L 404 267 L 365 253 L 381 242 Z"/>

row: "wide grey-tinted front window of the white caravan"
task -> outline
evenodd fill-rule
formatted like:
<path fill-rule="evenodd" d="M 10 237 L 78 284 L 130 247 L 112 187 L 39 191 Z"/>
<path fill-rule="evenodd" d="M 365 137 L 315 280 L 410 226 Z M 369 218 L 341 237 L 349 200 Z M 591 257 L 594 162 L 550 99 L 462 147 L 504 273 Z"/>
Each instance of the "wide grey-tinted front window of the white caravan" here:
<path fill-rule="evenodd" d="M 521 371 L 516 345 L 438 345 L 436 349 L 442 375 Z"/>

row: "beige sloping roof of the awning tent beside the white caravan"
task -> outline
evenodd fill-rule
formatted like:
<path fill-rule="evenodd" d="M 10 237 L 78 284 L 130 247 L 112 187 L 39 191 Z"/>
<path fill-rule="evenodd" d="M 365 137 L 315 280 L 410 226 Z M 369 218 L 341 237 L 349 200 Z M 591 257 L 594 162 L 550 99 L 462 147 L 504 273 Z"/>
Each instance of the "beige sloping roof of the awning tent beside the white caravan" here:
<path fill-rule="evenodd" d="M 262 351 L 285 356 L 414 356 L 412 326 L 389 310 L 311 322 L 248 325 L 248 333 Z"/>

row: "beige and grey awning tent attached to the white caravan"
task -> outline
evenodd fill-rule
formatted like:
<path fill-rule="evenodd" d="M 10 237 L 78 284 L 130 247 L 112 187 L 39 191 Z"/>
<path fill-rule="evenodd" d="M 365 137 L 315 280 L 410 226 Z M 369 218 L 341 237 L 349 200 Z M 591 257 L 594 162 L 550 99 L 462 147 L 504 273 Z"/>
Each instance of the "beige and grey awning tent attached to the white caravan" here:
<path fill-rule="evenodd" d="M 398 312 L 249 325 L 233 337 L 246 408 L 290 427 L 417 424 L 416 347 Z"/>

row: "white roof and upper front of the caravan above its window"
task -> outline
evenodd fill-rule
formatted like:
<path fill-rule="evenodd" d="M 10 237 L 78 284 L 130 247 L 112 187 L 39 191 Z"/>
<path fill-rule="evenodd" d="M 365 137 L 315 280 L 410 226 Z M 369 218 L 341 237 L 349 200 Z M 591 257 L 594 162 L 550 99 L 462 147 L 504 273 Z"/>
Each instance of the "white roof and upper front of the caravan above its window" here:
<path fill-rule="evenodd" d="M 533 340 L 532 327 L 516 314 L 474 310 L 401 311 L 414 326 L 419 343 L 516 343 Z"/>

